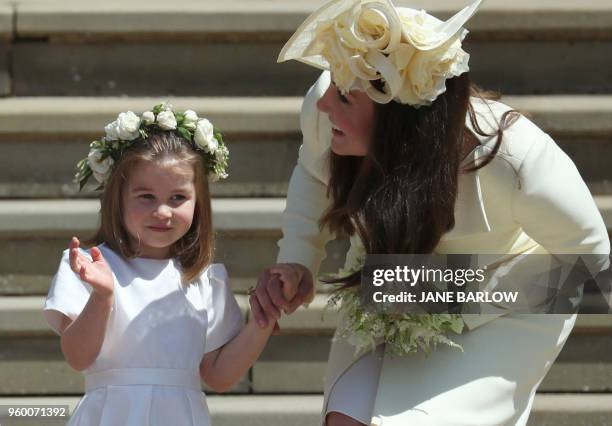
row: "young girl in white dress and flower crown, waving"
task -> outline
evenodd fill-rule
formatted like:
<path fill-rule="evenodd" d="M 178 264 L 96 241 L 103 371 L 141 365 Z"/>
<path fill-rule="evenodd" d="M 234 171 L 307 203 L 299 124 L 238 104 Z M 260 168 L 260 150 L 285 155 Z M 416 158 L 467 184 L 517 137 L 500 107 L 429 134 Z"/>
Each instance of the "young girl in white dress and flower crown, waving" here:
<path fill-rule="evenodd" d="M 227 160 L 208 120 L 158 105 L 119 114 L 79 163 L 81 188 L 91 175 L 104 188 L 97 246 L 72 239 L 44 308 L 85 374 L 70 425 L 209 425 L 200 378 L 226 391 L 261 353 L 272 324 L 243 327 L 211 264 L 207 178 L 226 177 Z"/>

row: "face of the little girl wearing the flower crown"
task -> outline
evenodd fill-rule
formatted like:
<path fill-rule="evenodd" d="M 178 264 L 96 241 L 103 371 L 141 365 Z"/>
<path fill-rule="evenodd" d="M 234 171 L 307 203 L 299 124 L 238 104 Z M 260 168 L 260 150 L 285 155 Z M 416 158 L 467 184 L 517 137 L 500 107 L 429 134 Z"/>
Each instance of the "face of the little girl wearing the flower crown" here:
<path fill-rule="evenodd" d="M 123 222 L 141 256 L 170 257 L 170 247 L 189 231 L 196 205 L 193 167 L 184 162 L 140 162 L 123 191 Z M 139 243 L 140 241 L 140 243 Z"/>

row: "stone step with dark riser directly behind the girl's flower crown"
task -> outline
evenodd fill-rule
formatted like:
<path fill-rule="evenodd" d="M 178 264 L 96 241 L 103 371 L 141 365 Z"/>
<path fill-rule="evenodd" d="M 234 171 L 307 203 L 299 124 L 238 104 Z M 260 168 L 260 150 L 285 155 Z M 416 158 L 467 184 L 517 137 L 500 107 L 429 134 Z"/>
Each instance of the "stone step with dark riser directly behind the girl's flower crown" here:
<path fill-rule="evenodd" d="M 119 111 L 142 112 L 163 98 L 0 99 L 0 197 L 94 197 L 72 183 L 88 144 L 103 136 Z M 226 134 L 231 150 L 226 181 L 215 196 L 285 196 L 301 141 L 299 97 L 170 98 L 192 108 Z M 591 190 L 612 194 L 612 96 L 507 96 L 572 157 Z M 266 159 L 265 167 L 262 159 Z M 27 164 L 27 167 L 24 165 Z M 19 166 L 18 166 L 19 165 Z"/>

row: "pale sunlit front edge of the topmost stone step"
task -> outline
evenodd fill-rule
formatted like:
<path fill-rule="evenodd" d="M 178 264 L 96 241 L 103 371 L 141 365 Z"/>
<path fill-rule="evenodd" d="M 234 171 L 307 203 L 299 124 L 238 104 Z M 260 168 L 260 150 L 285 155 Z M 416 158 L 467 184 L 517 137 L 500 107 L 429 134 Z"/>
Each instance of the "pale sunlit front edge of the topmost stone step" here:
<path fill-rule="evenodd" d="M 328 0 L 187 0 L 180 10 L 161 0 L 104 3 L 62 0 L 16 0 L 16 37 L 80 35 L 129 36 L 156 34 L 167 37 L 197 34 L 279 34 L 293 32 L 308 14 Z M 427 10 L 446 19 L 468 2 L 464 0 L 395 0 L 398 6 Z M 534 11 L 539 13 L 534 14 Z M 8 24 L 8 23 L 7 23 Z M 513 31 L 545 34 L 565 30 L 604 37 L 612 34 L 612 8 L 604 0 L 576 4 L 572 0 L 550 3 L 518 0 L 511 5 L 489 0 L 470 20 L 474 33 Z M 568 35 L 566 34 L 566 37 Z M 517 37 L 517 35 L 515 35 Z"/>

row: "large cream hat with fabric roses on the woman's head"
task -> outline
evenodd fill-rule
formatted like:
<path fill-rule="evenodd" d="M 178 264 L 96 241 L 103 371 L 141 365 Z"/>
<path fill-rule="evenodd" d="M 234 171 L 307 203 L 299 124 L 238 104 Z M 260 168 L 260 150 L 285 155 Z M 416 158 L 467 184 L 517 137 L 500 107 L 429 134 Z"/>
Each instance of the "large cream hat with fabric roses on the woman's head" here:
<path fill-rule="evenodd" d="M 278 62 L 296 59 L 329 70 L 343 93 L 362 90 L 378 103 L 430 105 L 447 79 L 469 70 L 463 25 L 481 3 L 444 22 L 390 0 L 332 0 L 300 25 Z M 382 80 L 383 91 L 373 80 Z"/>

